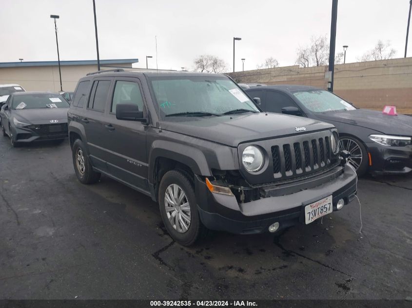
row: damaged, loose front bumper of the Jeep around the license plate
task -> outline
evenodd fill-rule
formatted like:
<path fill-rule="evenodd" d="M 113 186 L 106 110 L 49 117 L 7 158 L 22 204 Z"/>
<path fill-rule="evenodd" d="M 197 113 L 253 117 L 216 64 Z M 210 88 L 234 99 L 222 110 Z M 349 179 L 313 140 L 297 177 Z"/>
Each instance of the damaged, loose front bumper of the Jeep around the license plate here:
<path fill-rule="evenodd" d="M 239 203 L 235 196 L 210 192 L 196 178 L 196 199 L 202 223 L 209 229 L 235 234 L 267 232 L 278 222 L 280 229 L 305 223 L 304 208 L 317 200 L 333 196 L 333 210 L 343 199 L 345 205 L 356 194 L 356 173 L 348 165 L 302 181 L 260 188 L 261 198 Z"/>

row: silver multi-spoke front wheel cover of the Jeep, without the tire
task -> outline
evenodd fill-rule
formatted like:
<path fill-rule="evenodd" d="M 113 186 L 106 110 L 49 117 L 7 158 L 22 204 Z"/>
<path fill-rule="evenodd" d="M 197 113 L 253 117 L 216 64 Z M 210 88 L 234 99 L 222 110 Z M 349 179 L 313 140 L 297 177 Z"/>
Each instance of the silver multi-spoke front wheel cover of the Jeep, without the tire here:
<path fill-rule="evenodd" d="M 167 219 L 179 233 L 185 233 L 190 227 L 191 213 L 189 199 L 177 184 L 170 184 L 164 194 L 164 207 Z"/>

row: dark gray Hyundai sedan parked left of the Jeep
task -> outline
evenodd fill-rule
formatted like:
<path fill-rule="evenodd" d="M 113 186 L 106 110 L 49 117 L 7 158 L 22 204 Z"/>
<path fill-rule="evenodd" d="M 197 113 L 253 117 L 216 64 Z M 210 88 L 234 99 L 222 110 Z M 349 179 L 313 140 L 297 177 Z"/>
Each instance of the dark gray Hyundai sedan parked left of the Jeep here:
<path fill-rule="evenodd" d="M 67 137 L 69 103 L 57 93 L 17 92 L 1 107 L 3 136 L 17 146 L 36 140 Z"/>

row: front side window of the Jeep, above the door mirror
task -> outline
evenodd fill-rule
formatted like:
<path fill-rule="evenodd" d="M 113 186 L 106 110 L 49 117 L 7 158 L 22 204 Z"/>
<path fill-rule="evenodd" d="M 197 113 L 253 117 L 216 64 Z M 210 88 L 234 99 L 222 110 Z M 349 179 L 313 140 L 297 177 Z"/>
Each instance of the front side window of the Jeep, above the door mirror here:
<path fill-rule="evenodd" d="M 142 111 L 144 105 L 139 85 L 132 81 L 116 81 L 111 112 L 116 113 L 117 104 L 137 105 Z"/>

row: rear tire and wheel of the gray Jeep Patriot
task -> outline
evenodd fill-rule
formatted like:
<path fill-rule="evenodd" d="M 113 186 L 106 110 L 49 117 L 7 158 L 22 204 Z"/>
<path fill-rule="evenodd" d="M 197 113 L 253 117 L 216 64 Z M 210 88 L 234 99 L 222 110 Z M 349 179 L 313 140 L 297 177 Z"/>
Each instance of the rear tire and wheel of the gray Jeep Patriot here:
<path fill-rule="evenodd" d="M 78 181 L 83 184 L 93 184 L 100 179 L 101 174 L 93 170 L 86 149 L 80 139 L 77 139 L 73 144 L 72 157 Z"/>

